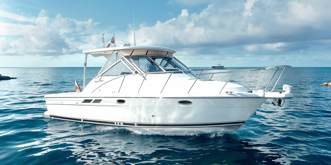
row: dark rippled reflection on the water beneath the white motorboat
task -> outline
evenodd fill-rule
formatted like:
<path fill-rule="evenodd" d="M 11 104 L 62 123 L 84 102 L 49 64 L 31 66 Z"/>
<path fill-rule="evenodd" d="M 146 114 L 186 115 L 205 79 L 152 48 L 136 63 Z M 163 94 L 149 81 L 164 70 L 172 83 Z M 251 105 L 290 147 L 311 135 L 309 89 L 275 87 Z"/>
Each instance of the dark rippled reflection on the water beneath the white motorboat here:
<path fill-rule="evenodd" d="M 47 118 L 44 120 L 47 127 L 34 131 L 44 132 L 46 136 L 18 145 L 19 151 L 34 148 L 35 152 L 28 156 L 49 155 L 53 152 L 56 154 L 58 150 L 71 151 L 71 159 L 86 164 L 206 164 L 206 160 L 208 164 L 245 164 L 247 161 L 274 164 L 278 160 L 284 163 L 285 159 L 291 157 L 283 153 L 286 152 L 284 148 L 274 142 L 270 143 L 275 140 L 271 137 L 282 135 L 270 132 L 261 137 L 252 132 L 250 134 L 257 136 L 256 138 L 242 138 L 242 132 L 246 134 L 244 137 L 250 132 L 245 130 L 246 128 L 239 132 L 196 132 L 190 136 L 187 133 L 178 133 L 181 136 L 165 136 L 147 135 L 150 133 L 112 126 Z"/>

